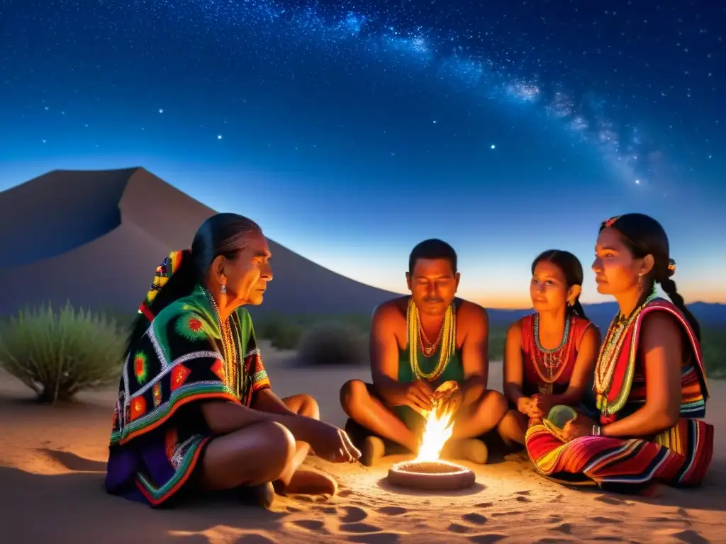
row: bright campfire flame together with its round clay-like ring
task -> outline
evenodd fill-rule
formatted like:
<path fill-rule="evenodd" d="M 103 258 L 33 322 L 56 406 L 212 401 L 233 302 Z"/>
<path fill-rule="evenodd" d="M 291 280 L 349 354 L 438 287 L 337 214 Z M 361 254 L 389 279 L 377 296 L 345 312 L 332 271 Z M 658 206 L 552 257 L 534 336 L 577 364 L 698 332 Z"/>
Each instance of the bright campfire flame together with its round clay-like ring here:
<path fill-rule="evenodd" d="M 388 482 L 421 490 L 454 490 L 473 485 L 476 474 L 464 466 L 441 459 L 441 450 L 452 437 L 454 417 L 461 403 L 456 382 L 444 382 L 436 390 L 433 409 L 426 416 L 420 447 L 413 461 L 388 470 Z"/>

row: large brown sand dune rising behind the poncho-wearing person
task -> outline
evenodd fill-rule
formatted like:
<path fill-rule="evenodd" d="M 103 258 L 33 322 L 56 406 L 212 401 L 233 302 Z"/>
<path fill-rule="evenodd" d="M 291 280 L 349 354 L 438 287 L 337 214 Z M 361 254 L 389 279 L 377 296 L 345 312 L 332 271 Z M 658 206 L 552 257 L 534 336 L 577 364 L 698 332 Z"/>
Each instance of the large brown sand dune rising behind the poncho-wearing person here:
<path fill-rule="evenodd" d="M 238 210 L 254 219 L 254 210 Z M 70 300 L 133 312 L 171 250 L 189 247 L 214 210 L 143 168 L 61 171 L 0 193 L 0 315 Z M 264 228 L 264 225 L 263 225 Z M 274 289 L 255 313 L 368 314 L 395 296 L 277 242 Z"/>

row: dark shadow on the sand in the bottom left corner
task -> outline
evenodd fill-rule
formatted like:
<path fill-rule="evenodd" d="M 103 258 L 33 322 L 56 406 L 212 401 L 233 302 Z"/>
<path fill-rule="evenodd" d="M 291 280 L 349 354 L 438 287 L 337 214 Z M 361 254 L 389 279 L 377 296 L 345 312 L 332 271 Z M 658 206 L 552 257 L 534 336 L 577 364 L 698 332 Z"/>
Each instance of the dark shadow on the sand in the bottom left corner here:
<path fill-rule="evenodd" d="M 7 542 L 78 544 L 129 542 L 208 544 L 203 532 L 223 530 L 225 542 L 272 544 L 267 537 L 282 529 L 287 514 L 232 500 L 185 504 L 183 508 L 152 509 L 107 495 L 105 463 L 65 452 L 48 453 L 75 474 L 31 474 L 0 467 L 0 527 Z M 100 471 L 99 471 L 100 469 Z M 242 513 L 240 509 L 254 509 Z M 251 515 L 250 515 L 251 514 Z M 253 527 L 242 520 L 254 519 Z M 219 529 L 223 526 L 224 529 Z"/>

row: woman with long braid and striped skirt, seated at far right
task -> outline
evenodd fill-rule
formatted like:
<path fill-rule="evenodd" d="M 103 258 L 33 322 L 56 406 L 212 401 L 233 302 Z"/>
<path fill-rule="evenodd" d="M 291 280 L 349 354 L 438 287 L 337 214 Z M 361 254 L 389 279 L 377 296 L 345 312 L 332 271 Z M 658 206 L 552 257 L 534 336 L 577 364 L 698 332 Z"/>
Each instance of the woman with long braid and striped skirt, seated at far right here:
<path fill-rule="evenodd" d="M 604 221 L 595 244 L 597 291 L 620 307 L 595 366 L 597 421 L 579 415 L 561 429 L 531 426 L 526 448 L 539 474 L 565 484 L 645 493 L 658 482 L 700 485 L 714 428 L 700 327 L 672 279 L 675 261 L 655 219 Z M 659 284 L 670 300 L 656 295 Z"/>

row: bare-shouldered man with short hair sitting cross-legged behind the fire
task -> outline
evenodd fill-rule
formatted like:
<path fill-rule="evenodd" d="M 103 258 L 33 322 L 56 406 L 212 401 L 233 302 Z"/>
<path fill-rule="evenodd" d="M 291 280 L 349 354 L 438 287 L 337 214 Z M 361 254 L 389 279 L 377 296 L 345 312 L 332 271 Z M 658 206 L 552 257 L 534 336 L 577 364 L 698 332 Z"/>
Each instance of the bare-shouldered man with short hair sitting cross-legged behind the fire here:
<path fill-rule="evenodd" d="M 346 382 L 340 403 L 351 418 L 346 430 L 362 439 L 367 466 L 386 455 L 387 439 L 416 452 L 433 391 L 447 380 L 462 390 L 452 439 L 442 456 L 486 463 L 481 440 L 507 412 L 505 397 L 486 389 L 489 318 L 486 310 L 455 297 L 457 255 L 439 239 L 418 244 L 409 256 L 411 296 L 383 302 L 370 331 L 372 384 Z M 407 343 L 407 338 L 410 342 Z"/>

